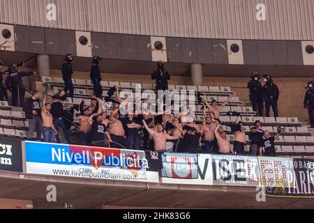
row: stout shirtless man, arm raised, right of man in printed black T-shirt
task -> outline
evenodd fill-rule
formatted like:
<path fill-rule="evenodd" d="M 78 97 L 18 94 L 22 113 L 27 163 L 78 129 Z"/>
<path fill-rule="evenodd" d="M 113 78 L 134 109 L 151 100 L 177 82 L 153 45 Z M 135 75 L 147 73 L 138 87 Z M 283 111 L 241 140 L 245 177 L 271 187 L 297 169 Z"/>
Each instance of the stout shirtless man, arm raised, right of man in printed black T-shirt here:
<path fill-rule="evenodd" d="M 121 146 L 128 146 L 128 139 L 126 139 L 126 133 L 124 131 L 124 125 L 119 120 L 119 108 L 114 109 L 110 114 L 108 132 L 112 141 L 121 144 Z M 114 145 L 115 146 L 115 145 Z"/>

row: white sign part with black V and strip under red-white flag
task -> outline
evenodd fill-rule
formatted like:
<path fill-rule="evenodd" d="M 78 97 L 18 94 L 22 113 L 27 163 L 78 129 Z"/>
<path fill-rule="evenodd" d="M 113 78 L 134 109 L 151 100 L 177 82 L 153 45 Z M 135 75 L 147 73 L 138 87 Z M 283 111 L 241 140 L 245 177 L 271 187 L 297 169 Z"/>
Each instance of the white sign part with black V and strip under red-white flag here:
<path fill-rule="evenodd" d="M 198 154 L 197 155 L 197 174 L 198 178 L 162 178 L 162 183 L 174 183 L 185 185 L 213 185 L 213 171 L 211 169 L 211 155 Z"/>

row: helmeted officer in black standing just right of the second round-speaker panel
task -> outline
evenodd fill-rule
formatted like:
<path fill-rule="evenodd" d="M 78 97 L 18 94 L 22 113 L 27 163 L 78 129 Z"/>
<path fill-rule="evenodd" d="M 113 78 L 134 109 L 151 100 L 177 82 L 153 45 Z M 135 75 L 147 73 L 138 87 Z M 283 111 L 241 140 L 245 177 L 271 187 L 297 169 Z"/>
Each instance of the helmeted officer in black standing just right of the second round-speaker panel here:
<path fill-rule="evenodd" d="M 94 84 L 94 95 L 97 98 L 101 98 L 103 95 L 103 88 L 101 87 L 101 76 L 100 76 L 100 69 L 99 69 L 99 62 L 101 58 L 100 56 L 94 56 L 93 60 L 91 61 L 91 82 Z"/>

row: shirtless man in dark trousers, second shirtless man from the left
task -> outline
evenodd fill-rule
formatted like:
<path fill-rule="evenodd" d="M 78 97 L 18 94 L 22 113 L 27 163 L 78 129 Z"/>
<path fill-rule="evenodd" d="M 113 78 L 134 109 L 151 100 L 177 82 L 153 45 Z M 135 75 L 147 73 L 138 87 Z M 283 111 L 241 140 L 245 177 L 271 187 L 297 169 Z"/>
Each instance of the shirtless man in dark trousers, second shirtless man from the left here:
<path fill-rule="evenodd" d="M 79 132 L 79 144 L 82 146 L 88 146 L 90 144 L 90 132 L 91 132 L 91 124 L 89 123 L 89 109 L 84 109 L 84 115 L 82 116 L 73 116 L 74 120 L 80 121 L 80 132 Z"/>

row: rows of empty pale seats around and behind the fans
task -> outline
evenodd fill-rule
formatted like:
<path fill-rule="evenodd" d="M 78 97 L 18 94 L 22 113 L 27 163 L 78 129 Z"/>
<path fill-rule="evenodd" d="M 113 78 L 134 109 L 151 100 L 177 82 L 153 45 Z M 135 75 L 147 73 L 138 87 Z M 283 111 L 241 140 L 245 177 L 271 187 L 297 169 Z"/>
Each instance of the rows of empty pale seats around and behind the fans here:
<path fill-rule="evenodd" d="M 43 77 L 43 85 L 46 86 L 46 92 L 49 94 L 58 93 L 59 89 L 63 88 L 63 80 L 59 77 Z M 90 97 L 93 93 L 93 85 L 90 80 L 74 79 L 75 86 L 74 98 L 68 98 L 66 103 L 73 105 L 80 105 L 82 98 L 85 98 L 87 104 L 90 103 Z M 154 84 L 137 84 L 130 82 L 101 82 L 104 95 L 112 86 L 119 86 L 119 90 L 133 90 L 135 86 L 141 86 L 142 91 L 155 89 Z M 197 92 L 204 94 L 204 98 L 208 101 L 217 100 L 218 105 L 221 105 L 229 95 L 234 95 L 234 91 L 230 87 L 225 86 L 169 86 L 170 90 L 177 89 L 178 91 L 193 90 L 195 95 Z M 135 92 L 133 92 L 135 93 Z M 112 109 L 107 111 L 110 115 Z M 220 113 L 220 121 L 223 124 L 224 130 L 227 131 L 227 138 L 232 144 L 234 136 L 229 126 L 234 123 L 234 116 L 227 116 L 227 112 L 239 112 L 241 114 L 241 121 L 244 122 L 244 132 L 246 132 L 247 144 L 250 143 L 248 134 L 254 122 L 260 120 L 262 122 L 262 129 L 274 134 L 277 126 L 285 127 L 285 132 L 276 141 L 276 149 L 279 155 L 313 155 L 314 153 L 314 136 L 308 131 L 308 128 L 299 122 L 298 118 L 292 117 L 259 117 L 253 112 L 252 107 L 244 106 L 244 102 L 239 97 L 233 96 L 232 100 L 223 108 Z M 28 123 L 24 118 L 24 113 L 17 110 L 17 108 L 10 107 L 8 102 L 0 102 L 0 135 L 6 137 L 24 139 L 28 129 Z M 195 103 L 195 122 L 197 125 L 202 125 L 204 115 L 202 112 L 202 105 Z M 34 133 L 34 137 L 36 133 Z"/>

